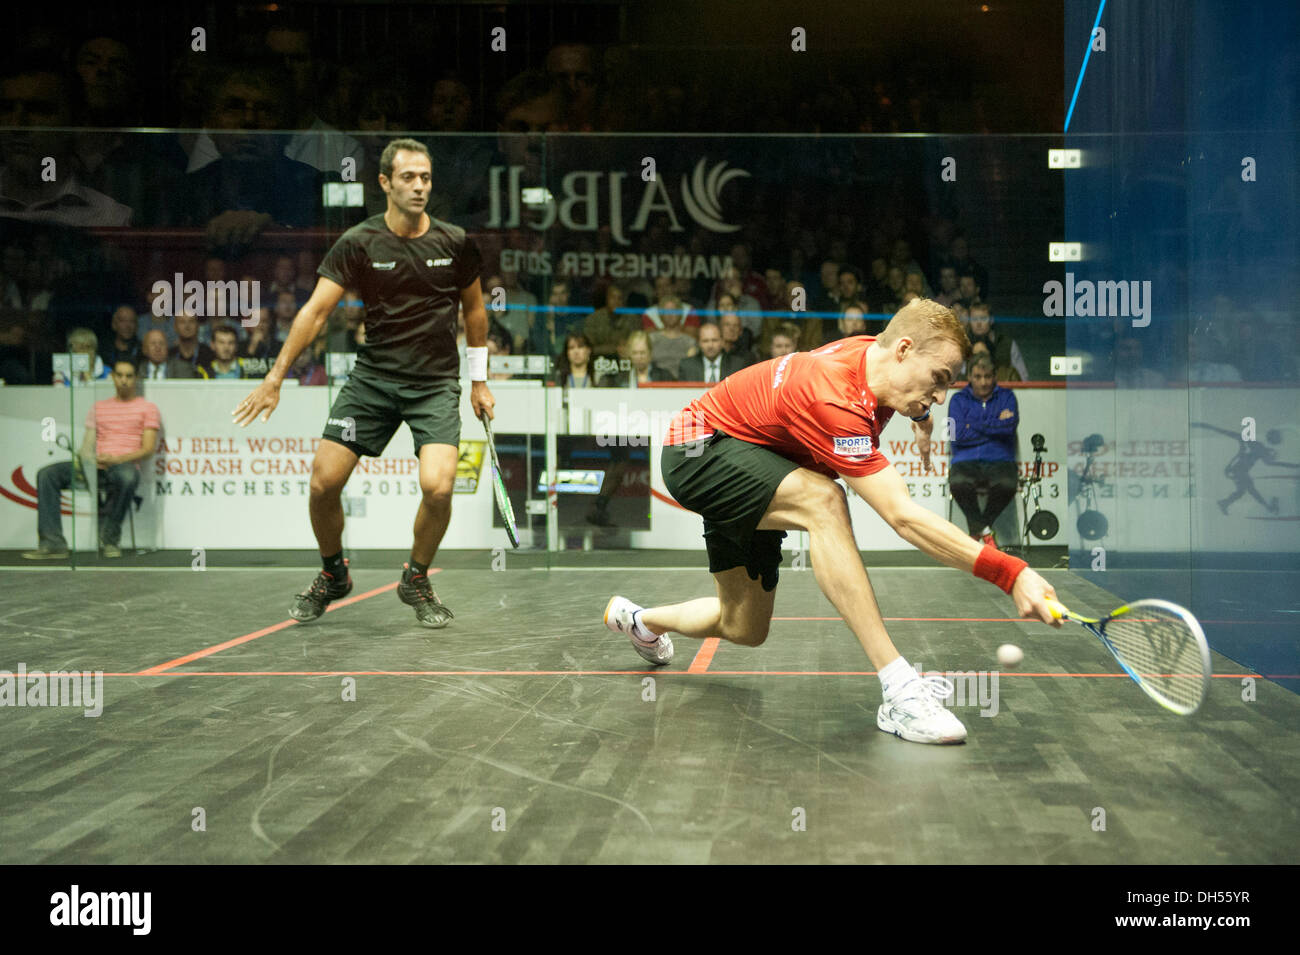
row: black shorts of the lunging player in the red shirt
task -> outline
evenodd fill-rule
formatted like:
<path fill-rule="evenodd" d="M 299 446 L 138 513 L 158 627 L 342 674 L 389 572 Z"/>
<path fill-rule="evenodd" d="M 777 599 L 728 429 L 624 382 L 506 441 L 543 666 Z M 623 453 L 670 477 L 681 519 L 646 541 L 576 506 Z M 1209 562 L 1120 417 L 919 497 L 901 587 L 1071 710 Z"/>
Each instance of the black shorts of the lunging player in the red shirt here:
<path fill-rule="evenodd" d="M 763 590 L 775 590 L 784 530 L 758 530 L 794 461 L 759 444 L 715 431 L 689 444 L 666 444 L 663 483 L 684 508 L 705 518 L 708 573 L 744 567 Z"/>

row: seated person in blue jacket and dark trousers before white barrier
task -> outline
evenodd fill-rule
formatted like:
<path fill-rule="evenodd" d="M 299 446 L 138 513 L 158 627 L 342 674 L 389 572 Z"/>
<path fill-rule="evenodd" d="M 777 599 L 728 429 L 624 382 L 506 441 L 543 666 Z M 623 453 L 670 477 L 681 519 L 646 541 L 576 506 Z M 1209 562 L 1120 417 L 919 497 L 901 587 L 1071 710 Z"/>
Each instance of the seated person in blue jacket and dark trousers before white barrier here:
<path fill-rule="evenodd" d="M 993 521 L 1011 503 L 1017 491 L 1015 427 L 1020 412 L 1015 395 L 998 387 L 993 360 L 976 355 L 970 365 L 970 383 L 953 395 L 948 417 L 952 421 L 953 460 L 949 487 L 953 500 L 966 515 L 972 538 L 992 544 Z M 980 511 L 976 491 L 984 487 L 988 499 Z"/>

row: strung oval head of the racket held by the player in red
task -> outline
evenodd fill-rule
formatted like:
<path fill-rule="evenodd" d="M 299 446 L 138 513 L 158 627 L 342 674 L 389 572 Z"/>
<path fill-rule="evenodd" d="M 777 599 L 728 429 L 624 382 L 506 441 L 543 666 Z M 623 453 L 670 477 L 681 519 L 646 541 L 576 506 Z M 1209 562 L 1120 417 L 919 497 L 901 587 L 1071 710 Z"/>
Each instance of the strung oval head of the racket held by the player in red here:
<path fill-rule="evenodd" d="M 1204 660 L 1180 616 L 1143 607 L 1106 621 L 1104 633 L 1115 655 L 1153 693 L 1183 708 L 1200 703 Z"/>

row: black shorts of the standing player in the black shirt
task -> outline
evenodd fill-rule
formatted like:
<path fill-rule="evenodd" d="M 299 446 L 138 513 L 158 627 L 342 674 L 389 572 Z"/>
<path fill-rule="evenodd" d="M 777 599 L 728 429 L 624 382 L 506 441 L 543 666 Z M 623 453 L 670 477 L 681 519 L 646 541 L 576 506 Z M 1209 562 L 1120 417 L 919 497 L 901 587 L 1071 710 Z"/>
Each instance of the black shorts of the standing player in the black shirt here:
<path fill-rule="evenodd" d="M 460 382 L 404 385 L 354 374 L 334 399 L 322 438 L 356 455 L 378 457 L 406 421 L 415 453 L 425 444 L 460 446 Z"/>

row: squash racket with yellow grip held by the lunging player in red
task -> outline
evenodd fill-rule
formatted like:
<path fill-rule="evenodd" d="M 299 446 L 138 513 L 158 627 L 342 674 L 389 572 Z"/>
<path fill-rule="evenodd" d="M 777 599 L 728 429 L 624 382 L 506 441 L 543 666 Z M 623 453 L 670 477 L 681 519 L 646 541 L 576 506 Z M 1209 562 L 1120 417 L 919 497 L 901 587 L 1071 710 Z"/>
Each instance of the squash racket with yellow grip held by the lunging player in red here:
<path fill-rule="evenodd" d="M 1052 616 L 1095 633 L 1124 673 L 1165 709 L 1191 716 L 1210 685 L 1210 648 L 1200 622 L 1169 600 L 1134 600 L 1101 620 L 1048 600 Z"/>

